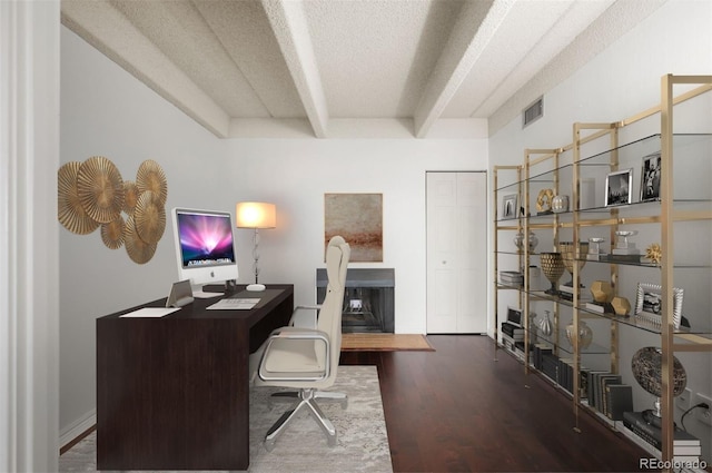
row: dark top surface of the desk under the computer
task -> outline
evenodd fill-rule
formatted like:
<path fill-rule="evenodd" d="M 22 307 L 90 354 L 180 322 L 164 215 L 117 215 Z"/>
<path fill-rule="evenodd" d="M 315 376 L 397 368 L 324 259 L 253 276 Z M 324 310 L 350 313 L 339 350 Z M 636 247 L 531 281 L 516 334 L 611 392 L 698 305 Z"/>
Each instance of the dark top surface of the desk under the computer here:
<path fill-rule="evenodd" d="M 121 319 L 121 321 L 175 321 L 175 319 L 190 319 L 190 318 L 260 318 L 266 312 L 269 312 L 273 307 L 284 302 L 288 297 L 294 296 L 294 285 L 291 284 L 270 284 L 263 292 L 248 292 L 245 289 L 245 285 L 238 285 L 235 292 L 216 296 L 210 298 L 195 298 L 192 303 L 181 307 L 171 314 L 162 317 L 121 317 L 123 314 L 137 311 L 144 307 L 165 307 L 167 297 L 151 300 L 147 304 L 141 304 L 136 307 L 126 308 L 123 311 L 116 312 L 102 317 L 101 319 Z M 205 292 L 221 293 L 222 286 L 206 286 Z M 224 297 L 240 297 L 240 298 L 259 298 L 259 302 L 251 309 L 218 309 L 208 311 L 207 307 L 217 303 Z"/>

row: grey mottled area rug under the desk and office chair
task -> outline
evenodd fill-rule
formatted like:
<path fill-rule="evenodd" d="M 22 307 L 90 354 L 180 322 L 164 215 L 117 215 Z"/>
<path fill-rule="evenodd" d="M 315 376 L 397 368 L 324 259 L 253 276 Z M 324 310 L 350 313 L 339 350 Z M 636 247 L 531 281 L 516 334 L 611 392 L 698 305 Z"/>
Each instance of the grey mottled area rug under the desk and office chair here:
<path fill-rule="evenodd" d="M 249 472 L 393 472 L 386 422 L 375 366 L 339 366 L 333 390 L 348 395 L 348 407 L 319 404 L 338 433 L 329 447 L 317 423 L 304 412 L 277 441 L 271 452 L 263 444 L 265 433 L 288 404 L 267 398 L 275 388 L 250 391 Z M 96 432 L 59 457 L 60 472 L 96 472 Z"/>

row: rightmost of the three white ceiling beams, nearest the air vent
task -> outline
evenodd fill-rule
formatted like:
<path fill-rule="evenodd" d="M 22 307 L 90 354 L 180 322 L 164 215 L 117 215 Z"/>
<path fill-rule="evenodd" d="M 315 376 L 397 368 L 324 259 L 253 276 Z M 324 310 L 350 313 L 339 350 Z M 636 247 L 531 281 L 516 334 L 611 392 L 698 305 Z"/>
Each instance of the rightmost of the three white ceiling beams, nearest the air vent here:
<path fill-rule="evenodd" d="M 414 114 L 417 138 L 427 136 L 516 0 L 465 2 Z"/>

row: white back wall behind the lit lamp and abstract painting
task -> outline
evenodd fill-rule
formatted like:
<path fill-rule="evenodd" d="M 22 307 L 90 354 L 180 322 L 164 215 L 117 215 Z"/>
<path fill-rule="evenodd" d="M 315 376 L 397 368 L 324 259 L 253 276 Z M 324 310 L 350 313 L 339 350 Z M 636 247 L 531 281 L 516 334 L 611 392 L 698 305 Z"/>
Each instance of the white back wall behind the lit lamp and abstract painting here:
<path fill-rule="evenodd" d="M 260 280 L 294 282 L 296 302 L 314 303 L 315 268 L 324 267 L 324 194 L 383 193 L 384 262 L 350 267 L 395 268 L 396 333 L 425 333 L 425 171 L 486 169 L 486 140 L 240 139 L 228 146 L 233 201 L 277 205 L 277 229 L 260 233 Z M 241 231 L 241 268 L 249 270 L 251 239 Z"/>

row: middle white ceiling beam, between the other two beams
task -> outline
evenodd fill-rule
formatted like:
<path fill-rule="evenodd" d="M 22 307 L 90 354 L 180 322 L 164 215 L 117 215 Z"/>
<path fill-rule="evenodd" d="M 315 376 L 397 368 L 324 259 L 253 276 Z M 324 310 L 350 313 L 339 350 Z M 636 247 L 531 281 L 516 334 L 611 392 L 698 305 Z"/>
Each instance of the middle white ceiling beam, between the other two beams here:
<path fill-rule="evenodd" d="M 261 0 L 307 118 L 317 138 L 326 138 L 328 109 L 301 2 Z"/>

